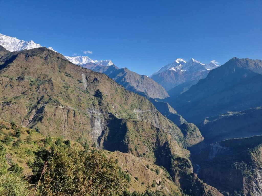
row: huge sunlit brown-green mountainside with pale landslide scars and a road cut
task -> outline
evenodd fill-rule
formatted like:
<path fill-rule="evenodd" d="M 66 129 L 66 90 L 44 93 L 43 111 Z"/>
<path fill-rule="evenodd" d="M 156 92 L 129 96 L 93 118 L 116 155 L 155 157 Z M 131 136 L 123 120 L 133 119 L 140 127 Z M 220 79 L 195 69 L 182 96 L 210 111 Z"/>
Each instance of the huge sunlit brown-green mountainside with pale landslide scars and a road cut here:
<path fill-rule="evenodd" d="M 105 74 L 76 66 L 47 48 L 12 52 L 0 59 L 0 92 L 1 119 L 132 153 L 167 167 L 183 190 L 221 195 L 193 174 L 181 130 L 146 98 Z"/>

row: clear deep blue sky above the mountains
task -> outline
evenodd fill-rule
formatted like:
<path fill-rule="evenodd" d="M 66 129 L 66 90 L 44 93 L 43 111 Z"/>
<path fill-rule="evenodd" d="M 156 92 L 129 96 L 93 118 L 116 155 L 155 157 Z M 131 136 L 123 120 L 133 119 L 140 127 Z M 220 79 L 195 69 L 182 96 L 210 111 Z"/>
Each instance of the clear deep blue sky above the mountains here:
<path fill-rule="evenodd" d="M 262 1 L 4 1 L 0 33 L 150 75 L 176 58 L 262 59 Z"/>

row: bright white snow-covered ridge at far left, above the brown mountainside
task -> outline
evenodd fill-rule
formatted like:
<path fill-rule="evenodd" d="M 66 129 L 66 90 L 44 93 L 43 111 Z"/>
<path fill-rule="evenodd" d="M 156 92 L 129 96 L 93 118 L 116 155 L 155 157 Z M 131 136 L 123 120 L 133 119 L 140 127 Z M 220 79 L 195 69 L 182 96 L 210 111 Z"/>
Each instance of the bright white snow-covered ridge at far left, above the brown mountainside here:
<path fill-rule="evenodd" d="M 11 52 L 42 47 L 40 44 L 36 44 L 32 40 L 24 41 L 24 40 L 17 39 L 16 37 L 9 37 L 3 35 L 1 33 L 0 33 L 0 45 Z M 49 47 L 48 49 L 53 50 L 52 47 Z"/>

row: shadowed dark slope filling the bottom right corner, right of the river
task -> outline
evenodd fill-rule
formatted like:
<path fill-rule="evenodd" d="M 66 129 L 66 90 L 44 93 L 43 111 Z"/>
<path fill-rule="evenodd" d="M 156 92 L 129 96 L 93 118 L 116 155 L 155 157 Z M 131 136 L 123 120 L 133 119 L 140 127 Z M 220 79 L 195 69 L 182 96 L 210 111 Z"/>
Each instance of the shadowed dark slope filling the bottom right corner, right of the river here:
<path fill-rule="evenodd" d="M 198 176 L 225 195 L 262 194 L 262 136 L 215 143 L 193 158 Z"/>

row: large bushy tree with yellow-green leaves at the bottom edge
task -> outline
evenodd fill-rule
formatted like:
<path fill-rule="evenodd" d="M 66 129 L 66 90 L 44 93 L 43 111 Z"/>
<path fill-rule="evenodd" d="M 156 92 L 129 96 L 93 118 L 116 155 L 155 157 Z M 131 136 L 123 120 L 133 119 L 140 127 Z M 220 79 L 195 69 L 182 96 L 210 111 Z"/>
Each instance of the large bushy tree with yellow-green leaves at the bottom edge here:
<path fill-rule="evenodd" d="M 116 162 L 107 160 L 99 151 L 52 147 L 46 157 L 47 160 L 41 160 L 47 162 L 40 185 L 43 196 L 118 196 L 127 188 L 128 182 L 119 173 Z M 39 161 L 34 164 L 38 164 L 35 172 L 39 176 L 42 167 Z"/>

